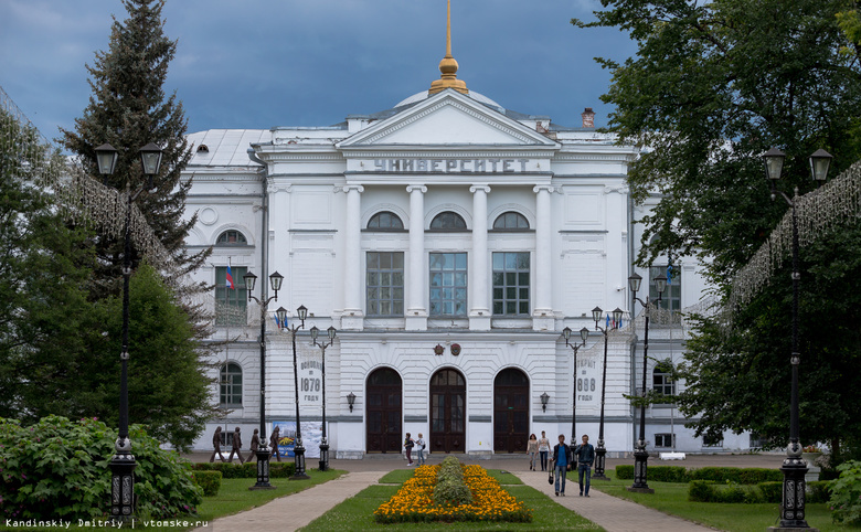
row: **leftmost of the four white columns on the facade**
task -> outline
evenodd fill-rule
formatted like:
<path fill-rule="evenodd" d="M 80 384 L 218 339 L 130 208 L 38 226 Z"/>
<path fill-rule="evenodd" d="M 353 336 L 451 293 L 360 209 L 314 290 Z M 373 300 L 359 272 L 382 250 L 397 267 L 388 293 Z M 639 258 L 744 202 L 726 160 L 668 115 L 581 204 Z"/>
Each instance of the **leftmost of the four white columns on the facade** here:
<path fill-rule="evenodd" d="M 347 209 L 344 211 L 344 305 L 341 328 L 361 330 L 362 324 L 362 233 L 361 233 L 361 193 L 364 188 L 348 184 Z"/>

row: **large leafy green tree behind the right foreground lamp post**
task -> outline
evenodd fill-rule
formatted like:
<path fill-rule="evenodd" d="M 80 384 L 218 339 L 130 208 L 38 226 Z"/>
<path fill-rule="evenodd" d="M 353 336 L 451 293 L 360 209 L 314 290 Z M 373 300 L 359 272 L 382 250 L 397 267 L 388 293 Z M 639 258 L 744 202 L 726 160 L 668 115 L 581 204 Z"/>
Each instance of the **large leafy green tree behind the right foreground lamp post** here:
<path fill-rule="evenodd" d="M 659 254 L 695 256 L 719 295 L 786 212 L 769 201 L 759 156 L 787 152 L 783 190 L 815 187 L 807 157 L 835 155 L 831 175 L 861 155 L 859 55 L 838 13 L 849 0 L 602 0 L 594 22 L 630 33 L 638 53 L 613 72 L 602 99 L 613 104 L 609 130 L 642 148 L 629 182 L 637 201 L 661 198 L 641 222 L 638 262 Z M 843 24 L 844 26 L 847 23 Z M 791 195 L 791 194 L 790 194 Z M 779 199 L 778 199 L 779 200 Z M 851 257 L 861 228 L 823 235 L 802 249 L 801 438 L 859 441 L 861 404 L 852 363 L 861 296 Z M 841 260 L 838 269 L 829 260 Z M 789 275 L 766 290 L 727 329 L 704 319 L 688 345 L 682 412 L 701 416 L 698 433 L 752 429 L 775 445 L 788 435 Z M 842 313 L 841 313 L 842 312 Z M 823 323 L 827 334 L 823 334 Z M 858 321 L 854 321 L 858 322 Z M 828 337 L 828 338 L 823 338 Z"/>

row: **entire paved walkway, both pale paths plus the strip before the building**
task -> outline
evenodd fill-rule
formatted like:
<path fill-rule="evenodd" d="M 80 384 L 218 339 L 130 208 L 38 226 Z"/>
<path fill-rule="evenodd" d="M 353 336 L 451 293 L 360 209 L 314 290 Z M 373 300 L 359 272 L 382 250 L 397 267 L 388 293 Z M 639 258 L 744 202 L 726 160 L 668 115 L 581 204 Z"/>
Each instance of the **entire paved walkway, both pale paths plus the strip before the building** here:
<path fill-rule="evenodd" d="M 438 464 L 445 455 L 434 455 L 428 464 Z M 189 457 L 193 461 L 203 461 L 198 456 Z M 198 459 L 195 459 L 198 458 Z M 205 459 L 208 459 L 206 456 Z M 593 490 L 592 497 L 578 497 L 576 480 L 567 485 L 570 494 L 555 497 L 548 485 L 546 474 L 530 471 L 529 462 L 523 455 L 495 457 L 490 460 L 479 460 L 459 455 L 465 464 L 480 464 L 486 468 L 506 469 L 518 476 L 527 486 L 535 488 L 565 508 L 574 510 L 593 521 L 607 532 L 687 532 L 713 530 L 701 526 L 680 518 L 667 515 L 657 510 L 617 499 Z M 631 459 L 608 459 L 608 469 L 616 464 L 630 464 Z M 774 455 L 708 455 L 691 456 L 685 461 L 661 462 L 649 460 L 651 465 L 678 465 L 687 467 L 725 466 L 725 467 L 779 467 L 780 458 Z M 406 467 L 406 461 L 397 455 L 370 455 L 363 460 L 332 460 L 333 469 L 346 469 L 348 475 L 313 488 L 285 496 L 254 510 L 216 519 L 209 526 L 196 529 L 196 532 L 291 532 L 307 525 L 318 517 L 328 512 L 341 501 L 353 497 L 364 488 L 376 483 L 380 478 L 393 469 Z M 333 531 L 337 532 L 337 531 Z"/>

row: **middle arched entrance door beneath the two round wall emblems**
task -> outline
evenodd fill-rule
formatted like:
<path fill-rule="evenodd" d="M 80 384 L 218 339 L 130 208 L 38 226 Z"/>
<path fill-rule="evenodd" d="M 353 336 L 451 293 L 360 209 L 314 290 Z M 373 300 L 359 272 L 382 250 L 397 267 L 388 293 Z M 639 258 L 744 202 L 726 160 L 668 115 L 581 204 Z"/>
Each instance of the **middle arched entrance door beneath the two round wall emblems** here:
<path fill-rule="evenodd" d="M 466 451 L 466 380 L 457 370 L 431 377 L 431 450 Z"/>

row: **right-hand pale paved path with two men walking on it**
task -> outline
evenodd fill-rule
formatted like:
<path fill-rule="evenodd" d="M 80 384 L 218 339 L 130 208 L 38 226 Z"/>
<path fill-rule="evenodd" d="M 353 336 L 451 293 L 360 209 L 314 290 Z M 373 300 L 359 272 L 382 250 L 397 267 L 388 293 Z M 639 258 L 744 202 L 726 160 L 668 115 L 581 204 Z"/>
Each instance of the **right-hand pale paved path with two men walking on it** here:
<path fill-rule="evenodd" d="M 674 515 L 652 510 L 630 501 L 589 490 L 589 497 L 580 497 L 576 477 L 574 482 L 568 475 L 565 497 L 556 497 L 553 486 L 548 483 L 548 474 L 541 471 L 518 471 L 520 480 L 527 486 L 546 493 L 555 502 L 574 510 L 607 532 L 695 532 L 714 530 L 694 524 Z M 596 482 L 593 482 L 593 487 Z"/>

